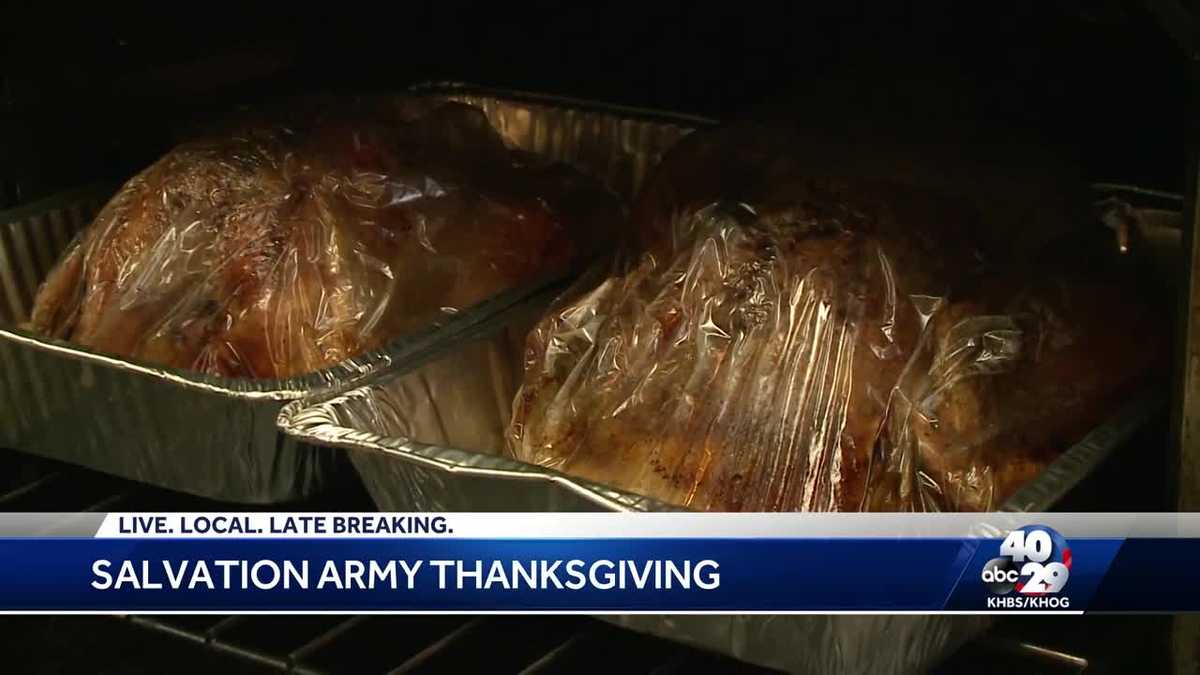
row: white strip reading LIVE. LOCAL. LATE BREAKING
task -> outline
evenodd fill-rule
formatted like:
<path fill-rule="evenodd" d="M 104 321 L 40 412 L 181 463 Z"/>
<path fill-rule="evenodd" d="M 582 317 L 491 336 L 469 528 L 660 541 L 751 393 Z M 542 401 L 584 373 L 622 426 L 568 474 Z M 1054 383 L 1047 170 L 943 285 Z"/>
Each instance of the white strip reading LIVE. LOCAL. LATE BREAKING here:
<path fill-rule="evenodd" d="M 109 513 L 95 536 L 284 539 L 958 538 L 1000 537 L 1025 525 L 1046 525 L 1067 538 L 1200 537 L 1200 513 Z"/>

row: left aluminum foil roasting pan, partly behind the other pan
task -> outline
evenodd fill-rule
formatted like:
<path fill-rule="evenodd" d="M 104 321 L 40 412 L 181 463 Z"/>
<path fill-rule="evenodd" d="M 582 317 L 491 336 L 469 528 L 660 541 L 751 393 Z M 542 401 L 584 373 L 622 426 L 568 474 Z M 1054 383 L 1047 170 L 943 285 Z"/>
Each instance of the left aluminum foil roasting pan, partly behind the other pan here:
<path fill-rule="evenodd" d="M 574 163 L 626 196 L 676 141 L 706 124 L 455 84 L 421 85 L 413 94 L 473 103 L 511 145 Z M 338 456 L 281 435 L 276 418 L 284 405 L 419 363 L 425 352 L 562 281 L 508 291 L 439 329 L 290 380 L 221 380 L 166 370 L 17 328 L 58 256 L 113 191 L 83 190 L 0 213 L 0 447 L 205 497 L 277 503 L 317 492 Z"/>

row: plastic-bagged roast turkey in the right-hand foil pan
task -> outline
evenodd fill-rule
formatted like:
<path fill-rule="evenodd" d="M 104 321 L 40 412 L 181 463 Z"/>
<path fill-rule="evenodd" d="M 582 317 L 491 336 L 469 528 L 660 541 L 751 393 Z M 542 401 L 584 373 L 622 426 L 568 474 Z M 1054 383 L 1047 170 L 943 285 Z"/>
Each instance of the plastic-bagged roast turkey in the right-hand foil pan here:
<path fill-rule="evenodd" d="M 1120 282 L 971 237 L 979 204 L 743 138 L 668 159 L 641 251 L 530 334 L 517 459 L 708 510 L 986 509 L 1163 352 Z"/>

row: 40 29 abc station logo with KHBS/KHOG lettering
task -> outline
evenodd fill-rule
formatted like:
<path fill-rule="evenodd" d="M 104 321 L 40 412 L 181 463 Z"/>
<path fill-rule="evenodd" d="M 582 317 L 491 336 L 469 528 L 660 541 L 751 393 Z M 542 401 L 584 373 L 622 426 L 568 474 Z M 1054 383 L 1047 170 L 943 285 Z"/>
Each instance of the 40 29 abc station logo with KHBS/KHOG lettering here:
<path fill-rule="evenodd" d="M 991 591 L 989 609 L 1069 609 L 1070 546 L 1050 527 L 1026 525 L 1004 537 L 979 579 Z"/>

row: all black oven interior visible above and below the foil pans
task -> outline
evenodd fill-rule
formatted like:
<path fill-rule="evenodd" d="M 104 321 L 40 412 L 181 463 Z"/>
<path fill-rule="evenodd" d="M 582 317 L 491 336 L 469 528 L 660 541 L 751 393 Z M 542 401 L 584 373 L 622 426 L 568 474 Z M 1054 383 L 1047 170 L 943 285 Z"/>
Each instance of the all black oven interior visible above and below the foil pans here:
<path fill-rule="evenodd" d="M 0 208 L 121 180 L 188 124 L 311 91 L 469 82 L 731 119 L 788 101 L 814 120 L 968 139 L 998 131 L 1097 181 L 1182 193 L 1189 73 L 1159 2 L 370 2 L 10 7 L 0 14 Z M 1184 14 L 1186 16 L 1186 14 Z M 1164 18 L 1166 17 L 1166 18 Z M 1175 25 L 1172 25 L 1175 24 Z M 1186 28 L 1186 26 L 1184 26 Z M 924 136 L 923 136 L 924 135 Z M 1139 461 L 1074 495 L 1169 510 L 1168 419 Z M 6 510 L 202 510 L 203 502 L 4 453 Z M 1114 486 L 1116 485 L 1116 488 Z M 1086 494 L 1085 494 L 1086 492 Z M 1068 501 L 1063 508 L 1069 508 Z M 373 508 L 356 478 L 298 508 Z M 583 617 L 7 617 L 14 673 L 751 671 Z M 943 668 L 1165 665 L 1162 617 L 1008 621 Z M 1114 638 L 1116 637 L 1116 638 Z M 1148 662 L 1146 659 L 1150 659 Z M 1151 664 L 1151 665 L 1147 665 Z"/>

